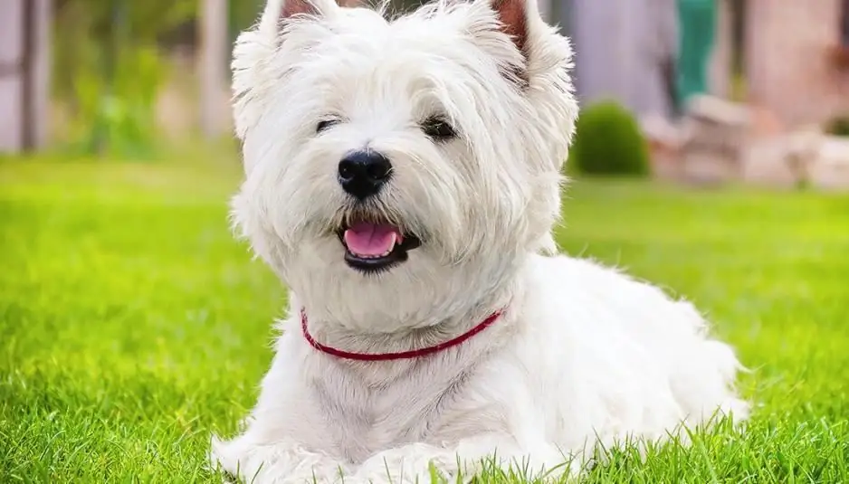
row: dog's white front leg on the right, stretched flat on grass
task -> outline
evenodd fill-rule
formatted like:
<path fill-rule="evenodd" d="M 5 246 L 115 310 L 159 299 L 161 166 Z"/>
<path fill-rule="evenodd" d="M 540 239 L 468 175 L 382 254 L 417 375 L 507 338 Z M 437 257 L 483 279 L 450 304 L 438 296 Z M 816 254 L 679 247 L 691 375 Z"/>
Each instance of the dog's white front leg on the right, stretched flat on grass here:
<path fill-rule="evenodd" d="M 520 446 L 510 435 L 487 433 L 445 447 L 412 443 L 378 452 L 363 462 L 353 481 L 422 484 L 431 482 L 435 471 L 448 482 L 468 482 L 490 465 L 533 479 L 567 473 L 565 462 L 568 456 L 548 444 Z"/>

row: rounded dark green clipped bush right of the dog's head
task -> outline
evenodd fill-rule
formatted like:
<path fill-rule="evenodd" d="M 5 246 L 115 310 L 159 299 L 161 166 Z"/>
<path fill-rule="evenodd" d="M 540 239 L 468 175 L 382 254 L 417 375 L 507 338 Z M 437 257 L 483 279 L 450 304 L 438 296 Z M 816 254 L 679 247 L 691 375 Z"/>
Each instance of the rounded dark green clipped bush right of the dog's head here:
<path fill-rule="evenodd" d="M 646 176 L 648 144 L 627 109 L 601 101 L 581 109 L 568 165 L 580 175 Z"/>

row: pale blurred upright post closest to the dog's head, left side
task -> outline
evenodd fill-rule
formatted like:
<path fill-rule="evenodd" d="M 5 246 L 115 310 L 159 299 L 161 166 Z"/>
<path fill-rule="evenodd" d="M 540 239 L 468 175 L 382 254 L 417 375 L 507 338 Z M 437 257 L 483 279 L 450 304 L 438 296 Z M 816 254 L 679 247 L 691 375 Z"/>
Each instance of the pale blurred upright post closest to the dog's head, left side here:
<path fill-rule="evenodd" d="M 228 126 L 224 95 L 227 92 L 227 0 L 201 0 L 200 126 L 204 137 L 214 139 Z"/>

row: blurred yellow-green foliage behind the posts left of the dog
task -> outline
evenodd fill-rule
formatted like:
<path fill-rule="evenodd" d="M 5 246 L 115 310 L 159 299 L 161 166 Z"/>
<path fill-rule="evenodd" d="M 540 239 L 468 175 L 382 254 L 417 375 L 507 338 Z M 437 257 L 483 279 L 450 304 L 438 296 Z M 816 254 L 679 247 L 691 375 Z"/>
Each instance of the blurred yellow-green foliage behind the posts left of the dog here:
<path fill-rule="evenodd" d="M 261 0 L 231 0 L 230 34 L 253 24 Z M 147 157 L 168 52 L 196 43 L 198 0 L 57 0 L 53 94 L 69 111 L 65 138 L 83 153 Z"/>

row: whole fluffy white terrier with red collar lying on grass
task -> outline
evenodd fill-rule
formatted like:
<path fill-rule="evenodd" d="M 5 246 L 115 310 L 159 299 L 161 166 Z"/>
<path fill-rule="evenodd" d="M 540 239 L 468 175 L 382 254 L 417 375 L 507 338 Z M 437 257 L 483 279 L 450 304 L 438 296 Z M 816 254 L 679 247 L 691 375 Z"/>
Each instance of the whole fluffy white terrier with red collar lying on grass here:
<path fill-rule="evenodd" d="M 268 1 L 234 49 L 233 216 L 291 309 L 216 465 L 261 483 L 456 479 L 484 459 L 557 475 L 596 442 L 747 413 L 691 304 L 552 254 L 570 58 L 532 1 L 394 20 Z"/>

